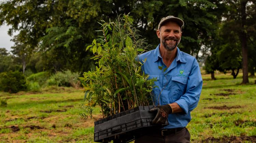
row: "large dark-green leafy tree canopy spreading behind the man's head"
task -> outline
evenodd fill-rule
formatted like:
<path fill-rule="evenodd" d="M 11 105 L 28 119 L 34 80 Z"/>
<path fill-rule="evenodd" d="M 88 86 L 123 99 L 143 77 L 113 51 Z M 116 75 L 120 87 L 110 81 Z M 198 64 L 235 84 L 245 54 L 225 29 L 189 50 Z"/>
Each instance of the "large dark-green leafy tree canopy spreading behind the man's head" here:
<path fill-rule="evenodd" d="M 119 14 L 130 12 L 133 24 L 141 31 L 139 34 L 154 49 L 159 43 L 156 29 L 160 19 L 178 16 L 185 21 L 184 40 L 179 48 L 195 56 L 215 29 L 217 7 L 207 0 L 122 1 L 8 0 L 0 5 L 0 25 L 11 25 L 9 34 L 20 31 L 19 36 L 25 38 L 24 44 L 31 51 L 39 47 L 40 52 L 45 53 L 42 57 L 45 70 L 79 72 L 93 67 L 92 53 L 85 52 L 85 47 L 96 38 L 96 23 L 100 20 L 113 20 Z"/>

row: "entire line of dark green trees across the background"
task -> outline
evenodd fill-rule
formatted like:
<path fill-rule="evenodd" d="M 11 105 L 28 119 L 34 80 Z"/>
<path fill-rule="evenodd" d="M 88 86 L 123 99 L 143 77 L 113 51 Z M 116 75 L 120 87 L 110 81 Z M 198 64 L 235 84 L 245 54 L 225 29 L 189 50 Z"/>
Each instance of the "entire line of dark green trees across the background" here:
<path fill-rule="evenodd" d="M 242 68 L 247 83 L 256 67 L 255 9 L 255 1 L 247 0 L 7 0 L 0 4 L 0 25 L 12 26 L 10 35 L 19 34 L 11 53 L 0 49 L 0 72 L 82 73 L 95 67 L 92 51 L 85 48 L 100 34 L 97 22 L 129 14 L 154 49 L 159 21 L 173 15 L 185 22 L 182 51 L 206 61 L 208 73 L 232 70 L 235 78 Z"/>

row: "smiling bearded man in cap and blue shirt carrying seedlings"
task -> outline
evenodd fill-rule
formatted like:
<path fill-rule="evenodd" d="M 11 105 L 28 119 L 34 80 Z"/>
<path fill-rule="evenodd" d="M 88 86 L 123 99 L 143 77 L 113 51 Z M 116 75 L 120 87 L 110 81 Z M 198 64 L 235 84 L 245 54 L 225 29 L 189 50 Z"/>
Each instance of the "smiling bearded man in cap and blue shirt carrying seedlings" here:
<path fill-rule="evenodd" d="M 156 34 L 160 44 L 155 50 L 139 55 L 144 62 L 142 69 L 150 78 L 156 78 L 153 89 L 157 112 L 153 124 L 169 125 L 148 133 L 135 143 L 187 143 L 190 134 L 186 125 L 190 112 L 197 106 L 202 90 L 202 77 L 195 57 L 181 52 L 177 47 L 181 40 L 183 20 L 174 16 L 162 18 Z"/>

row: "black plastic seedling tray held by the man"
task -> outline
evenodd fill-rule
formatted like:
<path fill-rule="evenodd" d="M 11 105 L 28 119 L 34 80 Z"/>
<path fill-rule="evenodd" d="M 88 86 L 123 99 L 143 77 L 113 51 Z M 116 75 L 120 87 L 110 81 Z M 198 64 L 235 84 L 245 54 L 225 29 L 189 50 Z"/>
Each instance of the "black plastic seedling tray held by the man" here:
<path fill-rule="evenodd" d="M 149 112 L 154 106 L 139 106 L 94 122 L 94 141 L 108 143 L 130 142 L 146 132 L 168 125 L 151 124 L 156 112 Z"/>

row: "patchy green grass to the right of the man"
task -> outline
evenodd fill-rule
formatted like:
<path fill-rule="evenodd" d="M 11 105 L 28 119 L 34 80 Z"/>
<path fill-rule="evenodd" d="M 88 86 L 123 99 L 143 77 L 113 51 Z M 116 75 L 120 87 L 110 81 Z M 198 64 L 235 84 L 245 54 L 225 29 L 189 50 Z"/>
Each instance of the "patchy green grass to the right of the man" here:
<path fill-rule="evenodd" d="M 247 85 L 241 85 L 242 74 L 236 79 L 228 74 L 217 75 L 215 81 L 210 78 L 210 75 L 203 75 L 200 101 L 191 112 L 192 120 L 187 126 L 191 141 L 200 142 L 210 137 L 255 136 L 256 78 L 249 78 L 250 84 Z M 223 93 L 226 96 L 222 96 L 225 95 Z M 216 109 L 221 106 L 229 108 Z"/>

